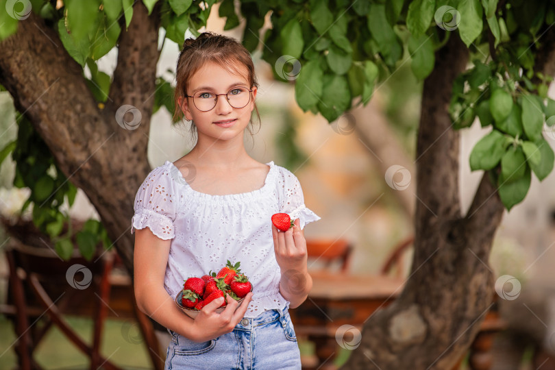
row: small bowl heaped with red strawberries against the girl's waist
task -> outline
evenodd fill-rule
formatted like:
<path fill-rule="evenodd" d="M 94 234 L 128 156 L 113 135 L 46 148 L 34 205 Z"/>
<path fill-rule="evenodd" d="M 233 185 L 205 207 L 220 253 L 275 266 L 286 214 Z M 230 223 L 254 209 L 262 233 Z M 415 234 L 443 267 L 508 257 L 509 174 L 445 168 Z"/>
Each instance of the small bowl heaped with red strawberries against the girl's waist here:
<path fill-rule="evenodd" d="M 227 260 L 227 264 L 218 273 L 210 271 L 201 277 L 189 277 L 185 280 L 182 291 L 175 296 L 175 303 L 192 319 L 197 317 L 204 306 L 219 297 L 223 297 L 224 301 L 216 312 L 225 310 L 226 294 L 240 305 L 247 293 L 252 291 L 252 284 L 247 275 L 240 272 L 239 266 L 240 262 L 232 264 Z"/>

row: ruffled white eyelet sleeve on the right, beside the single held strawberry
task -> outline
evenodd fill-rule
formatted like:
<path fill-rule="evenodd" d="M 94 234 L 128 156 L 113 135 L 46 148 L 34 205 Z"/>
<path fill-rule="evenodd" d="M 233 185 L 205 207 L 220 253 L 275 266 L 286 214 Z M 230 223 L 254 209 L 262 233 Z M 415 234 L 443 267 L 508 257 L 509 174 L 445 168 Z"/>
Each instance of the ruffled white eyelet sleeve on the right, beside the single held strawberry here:
<path fill-rule="evenodd" d="M 280 189 L 282 190 L 280 212 L 287 213 L 292 220 L 299 219 L 301 230 L 308 223 L 321 219 L 312 210 L 306 208 L 301 183 L 291 171 L 282 169 L 282 176 L 278 182 L 281 183 Z"/>

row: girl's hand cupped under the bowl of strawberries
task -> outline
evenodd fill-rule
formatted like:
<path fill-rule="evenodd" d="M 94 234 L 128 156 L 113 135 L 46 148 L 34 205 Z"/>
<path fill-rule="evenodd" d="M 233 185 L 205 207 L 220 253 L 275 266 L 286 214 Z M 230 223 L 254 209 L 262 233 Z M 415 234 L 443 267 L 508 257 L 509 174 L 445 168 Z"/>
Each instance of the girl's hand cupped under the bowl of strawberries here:
<path fill-rule="evenodd" d="M 191 341 L 206 342 L 232 332 L 235 325 L 243 319 L 247 308 L 249 308 L 252 292 L 247 293 L 237 310 L 235 309 L 239 305 L 238 301 L 230 295 L 226 294 L 226 296 L 227 306 L 225 306 L 223 312 L 216 312 L 216 309 L 223 303 L 223 298 L 214 299 L 199 311 L 191 328 L 192 334 L 188 336 Z"/>

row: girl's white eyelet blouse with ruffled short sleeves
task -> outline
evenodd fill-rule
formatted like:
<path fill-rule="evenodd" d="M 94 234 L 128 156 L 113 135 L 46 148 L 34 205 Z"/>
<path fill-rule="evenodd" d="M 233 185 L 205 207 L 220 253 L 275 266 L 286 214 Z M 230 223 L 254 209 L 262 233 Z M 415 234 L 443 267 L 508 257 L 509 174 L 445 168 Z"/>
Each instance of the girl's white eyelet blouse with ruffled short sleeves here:
<path fill-rule="evenodd" d="M 288 213 L 299 219 L 301 229 L 320 217 L 306 208 L 301 184 L 291 171 L 273 161 L 267 165 L 264 185 L 250 193 L 200 193 L 170 161 L 153 169 L 141 184 L 131 233 L 149 227 L 158 238 L 171 239 L 164 288 L 172 299 L 188 277 L 217 272 L 230 260 L 240 262 L 240 271 L 253 284 L 245 317 L 289 306 L 280 293 L 271 216 Z"/>

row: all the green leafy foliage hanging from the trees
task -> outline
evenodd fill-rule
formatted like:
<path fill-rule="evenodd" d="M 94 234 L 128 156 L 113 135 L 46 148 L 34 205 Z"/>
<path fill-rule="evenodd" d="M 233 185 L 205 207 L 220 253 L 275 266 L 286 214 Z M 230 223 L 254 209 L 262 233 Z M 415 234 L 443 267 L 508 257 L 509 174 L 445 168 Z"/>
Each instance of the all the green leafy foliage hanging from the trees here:
<path fill-rule="evenodd" d="M 149 14 L 160 16 L 165 38 L 178 45 L 186 31 L 199 34 L 216 0 L 143 0 Z M 56 30 L 64 48 L 90 72 L 86 82 L 102 103 L 111 77 L 99 71 L 97 60 L 114 47 L 129 27 L 131 0 L 31 0 L 32 11 Z M 136 4 L 135 4 L 136 5 Z M 23 10 L 0 11 L 0 40 L 16 32 Z M 225 29 L 241 21 L 243 45 L 274 66 L 275 79 L 295 80 L 295 99 L 304 111 L 320 113 L 329 122 L 360 104 L 366 105 L 379 82 L 395 73 L 408 58 L 412 73 L 423 80 L 436 63 L 435 51 L 451 37 L 469 48 L 472 66 L 454 82 L 449 114 L 460 130 L 476 118 L 490 127 L 473 148 L 472 170 L 490 171 L 508 210 L 528 193 L 532 172 L 543 180 L 554 166 L 554 152 L 543 128 L 555 123 L 555 101 L 547 97 L 552 77 L 535 65 L 541 35 L 555 23 L 555 3 L 498 0 L 242 0 L 219 3 Z M 261 34 L 264 18 L 272 27 Z M 280 66 L 278 68 L 278 66 Z M 297 67 L 300 71 L 291 73 Z M 156 81 L 154 111 L 173 112 L 173 88 L 162 77 Z M 28 186 L 34 221 L 58 238 L 60 255 L 69 256 L 69 240 L 60 236 L 66 216 L 60 205 L 73 203 L 75 188 L 56 169 L 53 157 L 33 132 L 25 116 L 18 119 L 15 143 L 0 151 L 12 152 L 17 163 L 15 186 Z M 0 162 L 1 163 L 1 162 Z M 99 223 L 90 221 L 77 237 L 85 256 L 96 242 L 109 244 Z"/>

